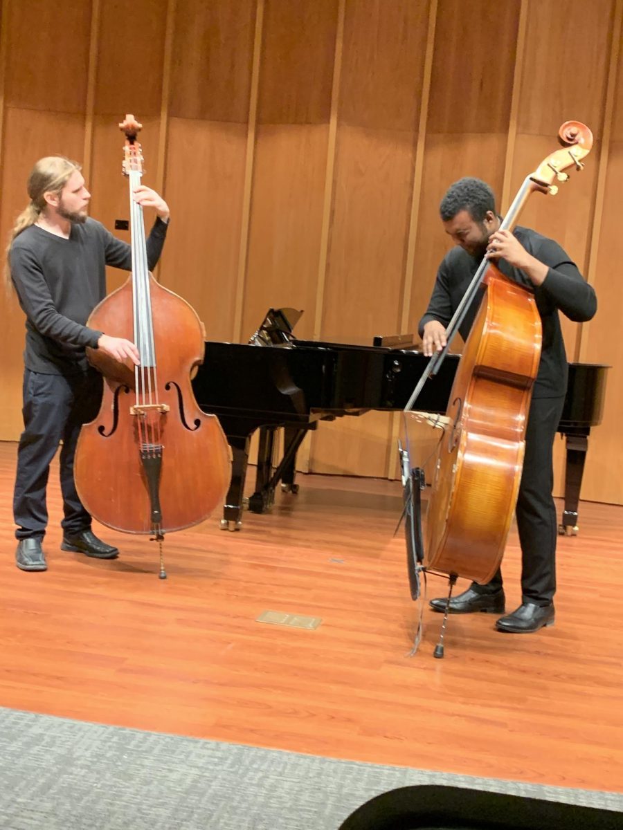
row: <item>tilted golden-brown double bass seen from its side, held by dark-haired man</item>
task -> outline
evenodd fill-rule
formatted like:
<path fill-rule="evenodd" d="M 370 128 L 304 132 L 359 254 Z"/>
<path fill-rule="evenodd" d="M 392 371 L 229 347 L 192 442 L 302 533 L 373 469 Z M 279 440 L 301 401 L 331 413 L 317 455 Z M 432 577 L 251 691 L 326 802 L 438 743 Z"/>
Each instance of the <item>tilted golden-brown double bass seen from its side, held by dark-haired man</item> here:
<path fill-rule="evenodd" d="M 591 130 L 567 121 L 558 139 L 564 149 L 547 156 L 524 179 L 500 230 L 513 229 L 531 193 L 555 195 L 554 182 L 567 181 L 567 168 L 582 168 L 581 159 L 593 142 Z M 478 295 L 478 313 L 440 421 L 443 436 L 421 551 L 424 569 L 449 574 L 450 593 L 457 577 L 487 583 L 502 560 L 517 504 L 527 413 L 541 355 L 541 320 L 533 292 L 484 259 L 449 323 L 447 345 L 430 359 L 405 413 L 436 374 Z"/>

